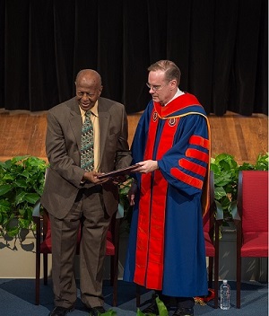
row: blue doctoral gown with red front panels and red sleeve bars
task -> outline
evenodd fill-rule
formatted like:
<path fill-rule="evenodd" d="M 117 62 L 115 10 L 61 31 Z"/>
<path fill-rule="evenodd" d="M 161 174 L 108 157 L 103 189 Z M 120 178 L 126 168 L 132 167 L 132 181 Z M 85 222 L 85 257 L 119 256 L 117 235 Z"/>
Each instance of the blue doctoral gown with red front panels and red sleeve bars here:
<path fill-rule="evenodd" d="M 165 107 L 150 101 L 132 154 L 134 163 L 157 160 L 159 169 L 134 174 L 138 190 L 124 280 L 169 296 L 207 294 L 203 214 L 210 127 L 195 96 L 185 93 Z"/>

